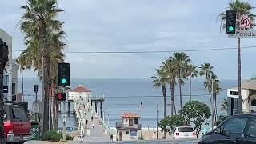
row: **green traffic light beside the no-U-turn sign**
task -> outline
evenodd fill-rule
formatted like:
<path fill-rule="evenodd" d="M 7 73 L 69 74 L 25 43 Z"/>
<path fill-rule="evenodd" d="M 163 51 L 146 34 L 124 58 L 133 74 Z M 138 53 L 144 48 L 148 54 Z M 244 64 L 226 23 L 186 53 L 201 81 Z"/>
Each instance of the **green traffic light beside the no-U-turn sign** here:
<path fill-rule="evenodd" d="M 237 21 L 237 12 L 235 10 L 226 10 L 226 34 L 235 34 Z"/>

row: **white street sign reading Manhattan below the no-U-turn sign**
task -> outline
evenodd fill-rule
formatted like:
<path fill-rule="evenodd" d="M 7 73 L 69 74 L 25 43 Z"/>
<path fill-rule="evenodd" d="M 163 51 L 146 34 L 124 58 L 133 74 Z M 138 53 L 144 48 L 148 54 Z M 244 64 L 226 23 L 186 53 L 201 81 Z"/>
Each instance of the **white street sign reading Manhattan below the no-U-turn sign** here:
<path fill-rule="evenodd" d="M 256 30 L 235 30 L 235 34 L 229 34 L 230 38 L 256 38 Z"/>

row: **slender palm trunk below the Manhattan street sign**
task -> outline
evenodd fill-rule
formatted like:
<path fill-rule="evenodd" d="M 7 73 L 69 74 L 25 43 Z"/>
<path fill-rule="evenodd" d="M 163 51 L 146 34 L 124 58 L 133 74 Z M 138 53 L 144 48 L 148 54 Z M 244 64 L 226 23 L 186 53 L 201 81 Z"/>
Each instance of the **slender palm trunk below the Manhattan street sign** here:
<path fill-rule="evenodd" d="M 238 110 L 240 110 L 240 114 L 242 114 L 240 38 L 238 38 L 238 95 L 239 95 Z"/>

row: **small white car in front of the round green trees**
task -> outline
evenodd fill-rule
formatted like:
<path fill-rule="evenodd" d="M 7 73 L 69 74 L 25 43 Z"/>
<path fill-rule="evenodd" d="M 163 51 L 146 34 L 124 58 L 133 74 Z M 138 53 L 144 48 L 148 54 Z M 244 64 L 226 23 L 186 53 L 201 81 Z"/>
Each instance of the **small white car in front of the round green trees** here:
<path fill-rule="evenodd" d="M 196 134 L 191 126 L 178 126 L 175 128 L 173 138 L 196 138 Z"/>

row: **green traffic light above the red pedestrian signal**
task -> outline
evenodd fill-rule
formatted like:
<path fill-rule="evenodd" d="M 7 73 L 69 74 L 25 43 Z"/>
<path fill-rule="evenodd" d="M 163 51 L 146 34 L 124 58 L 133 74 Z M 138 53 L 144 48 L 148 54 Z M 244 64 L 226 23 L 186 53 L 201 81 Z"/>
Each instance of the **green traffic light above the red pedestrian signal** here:
<path fill-rule="evenodd" d="M 70 86 L 70 64 L 58 64 L 58 86 Z"/>

